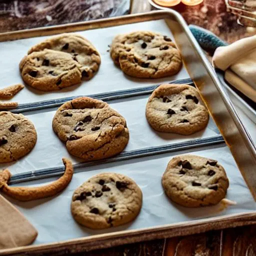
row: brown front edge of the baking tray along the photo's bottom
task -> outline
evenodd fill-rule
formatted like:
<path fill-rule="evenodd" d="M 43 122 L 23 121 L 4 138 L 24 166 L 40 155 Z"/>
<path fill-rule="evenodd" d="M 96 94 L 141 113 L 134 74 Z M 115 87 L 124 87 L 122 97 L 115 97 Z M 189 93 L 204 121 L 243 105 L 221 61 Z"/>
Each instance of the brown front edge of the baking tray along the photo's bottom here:
<path fill-rule="evenodd" d="M 244 212 L 238 214 L 235 213 L 225 216 L 216 216 L 206 219 L 198 219 L 192 221 L 188 220 L 173 224 L 159 225 L 155 227 L 96 234 L 86 237 L 73 238 L 60 242 L 26 245 L 15 248 L 2 249 L 0 250 L 0 255 L 23 256 L 24 254 L 22 253 L 25 253 L 26 255 L 37 255 L 33 253 L 47 253 L 50 251 L 53 252 L 54 250 L 65 250 L 66 252 L 70 253 L 78 251 L 82 252 L 145 240 L 184 236 L 206 232 L 209 230 L 218 230 L 222 228 L 230 228 L 251 224 L 256 224 L 255 212 Z M 191 229 L 193 229 L 192 232 Z"/>

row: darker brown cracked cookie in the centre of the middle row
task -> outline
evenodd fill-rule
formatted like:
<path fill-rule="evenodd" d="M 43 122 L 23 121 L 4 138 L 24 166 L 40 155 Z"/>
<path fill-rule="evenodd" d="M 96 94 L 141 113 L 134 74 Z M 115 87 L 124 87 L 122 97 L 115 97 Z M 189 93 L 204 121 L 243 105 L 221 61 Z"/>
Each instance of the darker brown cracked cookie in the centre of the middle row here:
<path fill-rule="evenodd" d="M 52 127 L 70 154 L 87 161 L 121 152 L 129 139 L 125 119 L 106 102 L 90 97 L 62 104 Z"/>

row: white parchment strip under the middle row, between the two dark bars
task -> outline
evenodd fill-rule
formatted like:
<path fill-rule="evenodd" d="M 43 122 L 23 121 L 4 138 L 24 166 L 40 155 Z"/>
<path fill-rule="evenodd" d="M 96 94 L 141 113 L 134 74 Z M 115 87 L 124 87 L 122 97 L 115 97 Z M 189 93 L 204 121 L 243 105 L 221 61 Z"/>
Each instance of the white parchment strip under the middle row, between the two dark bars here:
<path fill-rule="evenodd" d="M 150 146 L 166 145 L 180 141 L 200 137 L 211 137 L 219 134 L 219 131 L 210 118 L 205 129 L 191 135 L 178 135 L 154 131 L 147 123 L 145 117 L 146 102 L 150 94 L 125 98 L 123 100 L 111 100 L 110 106 L 117 110 L 127 122 L 129 129 L 129 142 L 125 151 L 140 149 Z M 55 108 L 56 109 L 56 108 Z M 0 164 L 0 168 L 8 167 L 12 174 L 29 170 L 62 165 L 62 157 L 71 158 L 73 163 L 81 159 L 72 157 L 63 142 L 52 130 L 52 118 L 56 110 L 31 111 L 25 116 L 31 120 L 37 131 L 37 141 L 32 151 L 16 162 Z"/>

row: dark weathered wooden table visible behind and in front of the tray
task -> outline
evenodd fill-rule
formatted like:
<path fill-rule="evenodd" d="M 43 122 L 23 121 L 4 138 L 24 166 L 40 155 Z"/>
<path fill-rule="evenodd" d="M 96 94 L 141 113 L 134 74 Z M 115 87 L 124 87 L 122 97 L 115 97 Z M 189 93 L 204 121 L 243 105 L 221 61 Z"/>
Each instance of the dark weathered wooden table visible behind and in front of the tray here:
<path fill-rule="evenodd" d="M 145 3 L 144 6 L 141 5 L 141 2 L 143 1 Z M 23 2 L 25 2 L 25 0 Z M 42 2 L 45 4 L 45 8 L 40 11 L 38 11 L 38 9 L 36 10 L 36 16 L 38 18 L 35 19 L 33 10 L 29 10 L 27 7 L 25 10 L 22 8 L 23 12 L 21 12 L 17 7 L 15 7 L 17 6 L 16 4 L 22 5 L 22 0 L 1 1 L 0 31 L 91 19 L 93 18 L 91 14 L 93 11 L 98 13 L 98 17 L 107 16 L 108 13 L 110 13 L 109 9 L 115 7 L 117 4 L 119 4 L 119 2 L 121 2 L 121 0 L 40 0 L 40 3 Z M 78 9 L 76 6 L 77 2 L 80 4 L 80 8 Z M 95 10 L 95 8 L 92 6 L 93 2 L 97 2 L 97 4 L 101 6 L 101 9 L 98 11 Z M 150 7 L 146 5 L 146 0 L 134 0 L 134 2 L 135 4 L 133 6 L 133 12 L 141 12 L 148 10 L 148 8 L 150 9 Z M 33 0 L 32 4 L 34 5 L 36 3 L 38 3 L 38 0 Z M 72 14 L 72 7 L 68 12 L 63 9 L 65 4 L 73 6 L 76 12 L 75 16 L 70 15 L 70 13 Z M 203 26 L 228 42 L 232 42 L 251 34 L 251 31 L 248 31 L 245 27 L 241 27 L 236 23 L 236 17 L 234 15 L 225 12 L 224 0 L 204 0 L 204 2 L 199 6 L 187 8 L 184 5 L 179 5 L 175 9 L 183 15 L 188 23 Z M 75 17 L 75 19 L 73 19 L 73 17 Z M 174 237 L 126 244 L 108 249 L 100 249 L 76 254 L 70 254 L 68 251 L 62 251 L 54 254 L 48 253 L 44 255 L 60 256 L 64 254 L 78 256 L 252 256 L 256 255 L 256 225 L 214 230 L 184 237 Z"/>

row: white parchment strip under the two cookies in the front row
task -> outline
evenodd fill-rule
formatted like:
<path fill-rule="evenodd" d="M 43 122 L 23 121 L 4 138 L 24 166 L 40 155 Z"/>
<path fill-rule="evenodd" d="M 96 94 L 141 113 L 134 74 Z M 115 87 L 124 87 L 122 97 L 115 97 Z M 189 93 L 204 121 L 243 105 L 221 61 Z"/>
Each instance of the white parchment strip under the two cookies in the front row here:
<path fill-rule="evenodd" d="M 205 149 L 205 148 L 204 148 Z M 236 201 L 223 209 L 221 203 L 215 206 L 185 208 L 171 202 L 161 187 L 161 176 L 170 158 L 180 153 L 192 153 L 214 158 L 225 168 L 229 178 L 226 198 Z M 80 172 L 77 172 L 80 171 Z M 70 213 L 73 191 L 89 177 L 100 172 L 118 172 L 136 181 L 143 193 L 142 209 L 138 217 L 125 225 L 102 230 L 91 230 L 77 224 Z M 51 179 L 53 180 L 53 179 Z M 49 179 L 47 179 L 49 181 Z M 37 180 L 26 184 L 41 184 Z M 9 199 L 9 198 L 8 198 Z M 37 228 L 38 236 L 34 244 L 67 240 L 92 234 L 155 227 L 163 224 L 203 219 L 212 216 L 250 212 L 256 210 L 254 202 L 227 146 L 211 147 L 198 151 L 182 151 L 157 156 L 142 157 L 118 163 L 107 163 L 76 170 L 68 187 L 59 195 L 32 202 L 11 200 Z"/>

